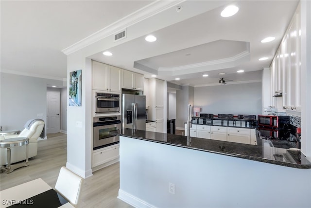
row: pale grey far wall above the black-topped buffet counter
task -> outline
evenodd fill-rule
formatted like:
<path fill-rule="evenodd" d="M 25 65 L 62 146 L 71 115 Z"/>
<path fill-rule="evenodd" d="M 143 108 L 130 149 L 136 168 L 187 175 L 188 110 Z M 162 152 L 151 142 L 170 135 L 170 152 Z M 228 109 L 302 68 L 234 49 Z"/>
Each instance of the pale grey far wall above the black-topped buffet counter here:
<path fill-rule="evenodd" d="M 200 113 L 261 114 L 261 82 L 194 88 Z"/>

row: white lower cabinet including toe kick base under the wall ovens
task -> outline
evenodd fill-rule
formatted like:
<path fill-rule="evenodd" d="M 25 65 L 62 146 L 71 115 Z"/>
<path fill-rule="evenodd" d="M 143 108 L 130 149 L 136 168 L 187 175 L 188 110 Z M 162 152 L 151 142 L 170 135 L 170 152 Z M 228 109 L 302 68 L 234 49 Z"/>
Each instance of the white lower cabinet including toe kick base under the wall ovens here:
<path fill-rule="evenodd" d="M 113 162 L 114 160 L 119 159 L 119 147 L 120 147 L 119 144 L 115 144 L 109 147 L 105 147 L 105 148 L 93 151 L 92 168 L 100 166 L 100 165 L 104 165 L 104 164 L 110 165 L 114 163 Z"/>

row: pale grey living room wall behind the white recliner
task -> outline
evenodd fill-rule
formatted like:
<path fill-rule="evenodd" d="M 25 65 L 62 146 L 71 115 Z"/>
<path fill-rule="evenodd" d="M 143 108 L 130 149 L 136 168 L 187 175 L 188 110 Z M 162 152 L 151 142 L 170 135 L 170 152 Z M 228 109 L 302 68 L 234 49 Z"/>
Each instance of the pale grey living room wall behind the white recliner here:
<path fill-rule="evenodd" d="M 0 73 L 0 76 L 0 126 L 3 131 L 22 130 L 26 121 L 32 118 L 46 122 L 47 84 L 62 85 L 63 82 L 8 73 Z"/>

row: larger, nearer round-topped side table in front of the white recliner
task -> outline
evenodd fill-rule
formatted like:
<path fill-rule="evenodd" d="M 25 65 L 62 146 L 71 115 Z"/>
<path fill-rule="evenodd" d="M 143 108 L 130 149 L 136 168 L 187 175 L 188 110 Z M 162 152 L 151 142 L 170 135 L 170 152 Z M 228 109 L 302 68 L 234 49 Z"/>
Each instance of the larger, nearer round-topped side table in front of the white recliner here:
<path fill-rule="evenodd" d="M 27 137 L 15 137 L 15 138 L 3 139 L 0 141 L 0 148 L 6 148 L 7 165 L 5 167 L 5 170 L 7 173 L 10 173 L 13 170 L 16 170 L 17 168 L 29 166 L 28 164 L 28 143 L 29 143 L 29 138 Z M 11 148 L 20 147 L 24 145 L 26 146 L 25 148 L 26 149 L 26 162 L 11 165 Z"/>

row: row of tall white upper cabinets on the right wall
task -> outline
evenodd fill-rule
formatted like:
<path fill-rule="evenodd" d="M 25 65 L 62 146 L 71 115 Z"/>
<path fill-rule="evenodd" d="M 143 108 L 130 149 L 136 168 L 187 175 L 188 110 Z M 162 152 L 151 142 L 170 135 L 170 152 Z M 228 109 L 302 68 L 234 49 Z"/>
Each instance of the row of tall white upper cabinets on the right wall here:
<path fill-rule="evenodd" d="M 298 6 L 270 67 L 272 95 L 282 93 L 283 110 L 301 110 L 299 8 Z M 276 97 L 272 99 L 271 105 L 277 106 Z"/>

